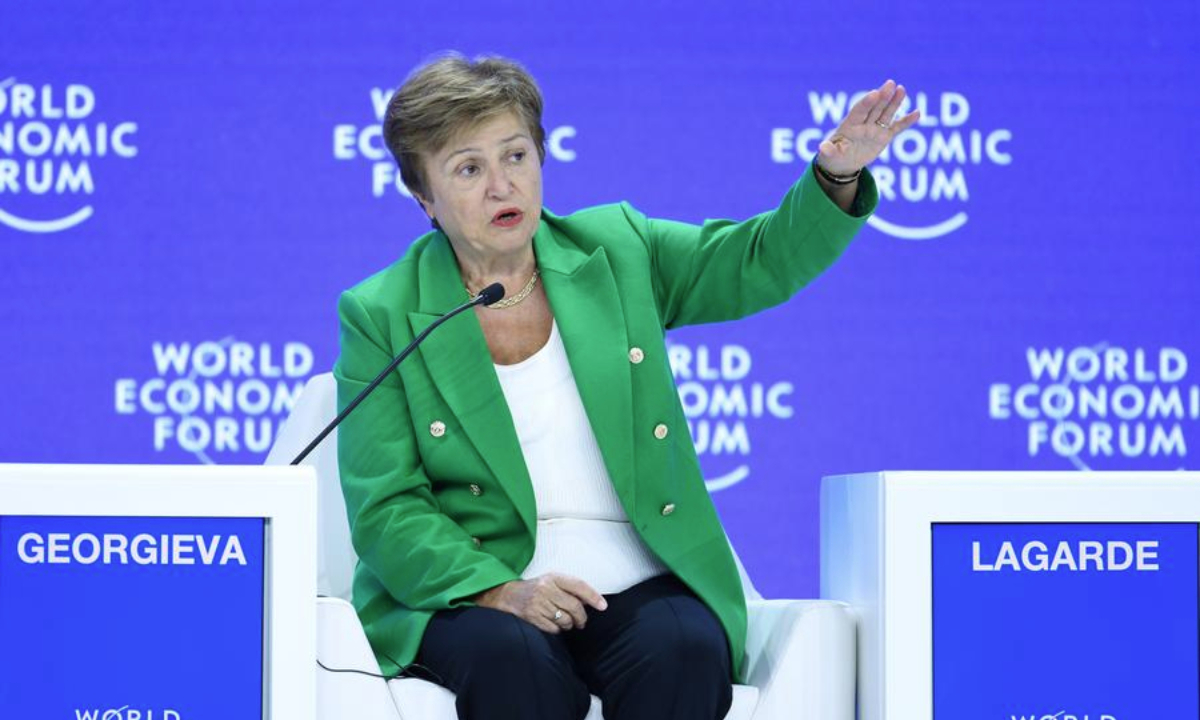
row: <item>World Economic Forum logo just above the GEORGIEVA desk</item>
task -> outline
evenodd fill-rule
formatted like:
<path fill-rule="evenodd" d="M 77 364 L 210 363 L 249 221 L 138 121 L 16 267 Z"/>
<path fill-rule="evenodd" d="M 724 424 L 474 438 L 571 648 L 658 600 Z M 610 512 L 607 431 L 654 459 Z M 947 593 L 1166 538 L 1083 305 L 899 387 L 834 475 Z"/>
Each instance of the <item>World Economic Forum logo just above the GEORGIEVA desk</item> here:
<path fill-rule="evenodd" d="M 302 342 L 155 342 L 150 354 L 149 377 L 116 380 L 116 414 L 151 418 L 155 452 L 182 450 L 206 464 L 270 450 L 313 366 Z"/>

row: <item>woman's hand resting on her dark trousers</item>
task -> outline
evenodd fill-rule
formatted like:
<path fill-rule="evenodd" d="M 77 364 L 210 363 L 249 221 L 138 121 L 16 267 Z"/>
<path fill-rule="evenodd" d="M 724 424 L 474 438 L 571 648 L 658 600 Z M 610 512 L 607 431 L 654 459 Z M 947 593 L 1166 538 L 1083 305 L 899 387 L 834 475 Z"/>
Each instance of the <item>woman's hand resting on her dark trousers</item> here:
<path fill-rule="evenodd" d="M 588 623 L 584 605 L 607 610 L 604 595 L 570 575 L 547 572 L 530 580 L 514 580 L 475 596 L 475 605 L 511 613 L 544 632 L 583 628 Z M 558 619 L 554 614 L 562 611 Z"/>

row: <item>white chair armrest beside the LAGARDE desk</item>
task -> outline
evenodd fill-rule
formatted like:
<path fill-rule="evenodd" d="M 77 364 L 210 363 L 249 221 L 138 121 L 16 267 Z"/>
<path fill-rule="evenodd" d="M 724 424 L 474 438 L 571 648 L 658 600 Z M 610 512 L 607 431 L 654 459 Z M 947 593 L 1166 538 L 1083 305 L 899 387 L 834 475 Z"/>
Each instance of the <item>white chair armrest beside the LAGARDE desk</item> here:
<path fill-rule="evenodd" d="M 748 604 L 746 684 L 755 720 L 854 720 L 856 622 L 832 600 Z"/>

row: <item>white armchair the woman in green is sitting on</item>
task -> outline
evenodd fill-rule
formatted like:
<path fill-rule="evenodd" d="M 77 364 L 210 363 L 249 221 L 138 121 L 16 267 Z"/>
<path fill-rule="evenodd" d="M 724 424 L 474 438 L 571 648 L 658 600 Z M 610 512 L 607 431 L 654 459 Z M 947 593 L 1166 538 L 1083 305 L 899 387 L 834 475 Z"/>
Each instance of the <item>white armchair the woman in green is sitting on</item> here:
<path fill-rule="evenodd" d="M 281 428 L 266 458 L 286 464 L 336 414 L 329 373 L 314 376 Z M 367 401 L 370 402 L 370 401 Z M 337 432 L 305 461 L 317 469 L 318 720 L 455 720 L 454 694 L 416 678 L 384 680 L 362 625 L 348 602 L 358 557 L 350 545 L 337 472 Z M 726 720 L 853 720 L 854 619 L 827 600 L 763 600 L 740 562 L 749 607 L 746 678 L 733 686 Z M 587 720 L 601 720 L 592 698 Z"/>

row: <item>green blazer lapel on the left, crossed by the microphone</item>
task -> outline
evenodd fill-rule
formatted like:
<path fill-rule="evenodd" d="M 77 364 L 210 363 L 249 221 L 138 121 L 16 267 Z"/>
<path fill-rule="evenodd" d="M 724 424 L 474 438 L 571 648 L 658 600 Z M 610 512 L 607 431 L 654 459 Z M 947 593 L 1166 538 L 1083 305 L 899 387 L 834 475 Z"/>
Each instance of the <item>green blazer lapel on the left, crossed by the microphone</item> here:
<path fill-rule="evenodd" d="M 420 263 L 420 311 L 408 313 L 414 335 L 468 299 L 444 235 L 430 244 Z M 448 320 L 425 338 L 420 353 L 438 392 L 533 536 L 536 503 L 529 470 L 475 313 Z"/>

